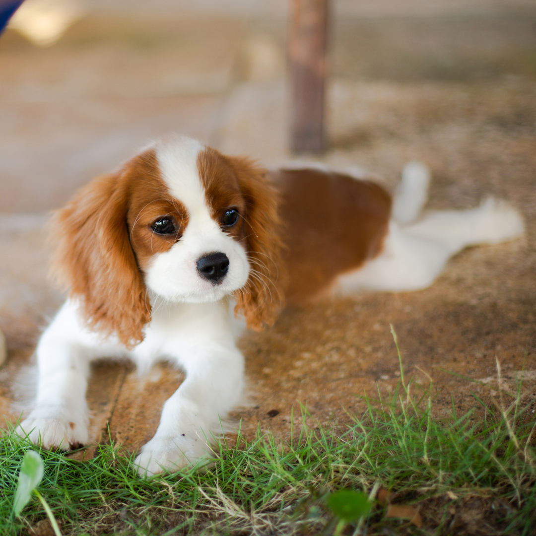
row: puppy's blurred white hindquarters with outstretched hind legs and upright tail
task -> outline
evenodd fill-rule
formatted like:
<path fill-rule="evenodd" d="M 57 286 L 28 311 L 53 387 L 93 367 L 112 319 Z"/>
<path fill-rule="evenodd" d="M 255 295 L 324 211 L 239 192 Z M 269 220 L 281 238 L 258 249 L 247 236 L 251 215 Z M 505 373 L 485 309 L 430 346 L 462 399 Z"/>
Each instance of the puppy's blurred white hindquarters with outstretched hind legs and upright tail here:
<path fill-rule="evenodd" d="M 411 164 L 412 168 L 405 168 L 409 171 L 407 182 L 398 190 L 401 198 L 393 203 L 398 206 L 399 221 L 418 218 L 426 202 L 427 170 L 417 166 L 418 162 Z M 523 232 L 519 212 L 492 197 L 475 209 L 430 211 L 411 225 L 391 219 L 382 253 L 359 270 L 339 276 L 333 292 L 348 295 L 360 289 L 399 292 L 426 288 L 449 258 L 468 245 L 496 244 Z"/>

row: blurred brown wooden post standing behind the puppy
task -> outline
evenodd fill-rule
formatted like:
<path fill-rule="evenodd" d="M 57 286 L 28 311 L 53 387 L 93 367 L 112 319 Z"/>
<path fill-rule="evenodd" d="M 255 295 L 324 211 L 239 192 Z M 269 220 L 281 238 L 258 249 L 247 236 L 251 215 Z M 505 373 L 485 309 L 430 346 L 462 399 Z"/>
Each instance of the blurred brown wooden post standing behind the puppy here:
<path fill-rule="evenodd" d="M 291 86 L 291 149 L 325 149 L 327 0 L 290 0 L 288 61 Z"/>

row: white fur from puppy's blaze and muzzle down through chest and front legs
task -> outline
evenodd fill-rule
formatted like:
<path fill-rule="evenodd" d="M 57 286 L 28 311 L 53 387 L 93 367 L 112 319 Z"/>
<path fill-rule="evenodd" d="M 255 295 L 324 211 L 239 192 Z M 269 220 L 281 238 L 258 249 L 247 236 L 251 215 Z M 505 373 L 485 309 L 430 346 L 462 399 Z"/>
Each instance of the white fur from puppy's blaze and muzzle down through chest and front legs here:
<path fill-rule="evenodd" d="M 44 447 L 88 442 L 85 398 L 90 362 L 99 358 L 130 358 L 142 371 L 158 359 L 181 367 L 187 378 L 167 400 L 157 433 L 136 458 L 140 474 L 151 475 L 195 463 L 210 451 L 220 418 L 236 405 L 243 391 L 243 357 L 229 295 L 248 279 L 249 264 L 242 245 L 210 217 L 196 160 L 202 145 L 179 138 L 157 145 L 163 180 L 189 213 L 181 240 L 153 256 L 145 282 L 153 306 L 142 343 L 127 351 L 115 337 L 102 339 L 88 331 L 79 305 L 68 300 L 43 333 L 36 351 L 39 379 L 35 409 L 21 422 Z M 229 270 L 220 285 L 199 277 L 197 259 L 224 252 Z"/>

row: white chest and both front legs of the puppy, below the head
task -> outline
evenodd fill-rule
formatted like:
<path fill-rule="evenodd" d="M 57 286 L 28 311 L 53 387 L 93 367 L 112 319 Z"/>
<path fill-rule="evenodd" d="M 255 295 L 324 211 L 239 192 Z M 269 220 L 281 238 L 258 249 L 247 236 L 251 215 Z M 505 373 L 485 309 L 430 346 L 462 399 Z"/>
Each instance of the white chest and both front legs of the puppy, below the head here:
<path fill-rule="evenodd" d="M 220 416 L 242 396 L 244 360 L 236 348 L 229 303 L 169 303 L 155 308 L 145 339 L 127 351 L 115 337 L 88 331 L 78 303 L 68 300 L 43 333 L 37 348 L 39 380 L 35 409 L 21 425 L 46 448 L 87 444 L 89 364 L 99 358 L 129 358 L 142 370 L 159 359 L 181 367 L 186 379 L 163 406 L 153 439 L 136 458 L 138 471 L 152 475 L 195 463 L 210 453 Z M 71 427 L 70 423 L 75 426 Z"/>

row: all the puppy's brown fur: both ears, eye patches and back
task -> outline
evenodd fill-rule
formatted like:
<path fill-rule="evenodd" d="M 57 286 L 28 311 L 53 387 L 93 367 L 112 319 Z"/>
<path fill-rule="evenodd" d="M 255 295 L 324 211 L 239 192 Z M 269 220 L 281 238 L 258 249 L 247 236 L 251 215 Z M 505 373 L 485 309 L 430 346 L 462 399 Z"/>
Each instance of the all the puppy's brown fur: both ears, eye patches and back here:
<path fill-rule="evenodd" d="M 199 154 L 197 166 L 214 220 L 222 225 L 229 209 L 240 214 L 225 230 L 243 244 L 250 263 L 247 283 L 235 292 L 235 312 L 248 327 L 273 324 L 285 290 L 290 303 L 303 303 L 382 249 L 391 199 L 377 184 L 310 169 L 267 177 L 250 160 L 211 148 Z M 153 233 L 151 225 L 163 216 L 174 220 L 175 235 Z M 116 333 L 130 348 L 143 340 L 151 319 L 143 270 L 187 225 L 184 205 L 170 195 L 155 151 L 148 150 L 120 172 L 96 178 L 54 214 L 53 272 L 80 300 L 91 329 Z"/>

